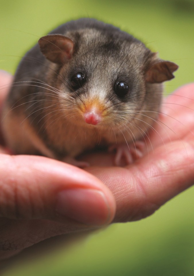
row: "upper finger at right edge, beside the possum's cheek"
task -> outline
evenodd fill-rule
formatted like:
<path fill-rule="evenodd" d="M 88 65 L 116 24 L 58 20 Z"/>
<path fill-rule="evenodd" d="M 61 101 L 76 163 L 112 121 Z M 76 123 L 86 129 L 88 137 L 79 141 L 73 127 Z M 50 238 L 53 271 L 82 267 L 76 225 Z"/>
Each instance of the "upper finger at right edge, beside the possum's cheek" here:
<path fill-rule="evenodd" d="M 182 140 L 194 130 L 194 83 L 180 87 L 164 98 L 158 121 L 150 132 L 153 147 Z M 147 141 L 150 146 L 149 141 Z"/>

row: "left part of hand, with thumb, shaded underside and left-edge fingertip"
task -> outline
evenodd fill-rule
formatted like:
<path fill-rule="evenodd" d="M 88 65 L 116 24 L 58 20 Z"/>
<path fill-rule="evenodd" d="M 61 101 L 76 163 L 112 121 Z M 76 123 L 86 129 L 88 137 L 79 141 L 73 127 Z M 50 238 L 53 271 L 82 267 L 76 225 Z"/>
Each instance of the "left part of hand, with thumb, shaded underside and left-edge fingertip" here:
<path fill-rule="evenodd" d="M 1 106 L 11 76 L 0 74 Z M 95 229 L 112 221 L 115 199 L 96 177 L 46 157 L 5 153 L 8 151 L 2 146 L 0 260 L 49 237 Z"/>

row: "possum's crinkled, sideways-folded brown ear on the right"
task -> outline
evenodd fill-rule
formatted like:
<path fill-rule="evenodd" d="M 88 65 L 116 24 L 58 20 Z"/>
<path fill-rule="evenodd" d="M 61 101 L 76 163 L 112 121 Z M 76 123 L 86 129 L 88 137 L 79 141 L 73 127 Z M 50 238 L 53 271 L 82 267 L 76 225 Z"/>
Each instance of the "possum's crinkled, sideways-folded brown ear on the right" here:
<path fill-rule="evenodd" d="M 172 73 L 178 68 L 179 66 L 173 62 L 158 60 L 154 62 L 146 71 L 145 80 L 146 82 L 151 83 L 168 81 L 174 78 L 174 75 Z"/>

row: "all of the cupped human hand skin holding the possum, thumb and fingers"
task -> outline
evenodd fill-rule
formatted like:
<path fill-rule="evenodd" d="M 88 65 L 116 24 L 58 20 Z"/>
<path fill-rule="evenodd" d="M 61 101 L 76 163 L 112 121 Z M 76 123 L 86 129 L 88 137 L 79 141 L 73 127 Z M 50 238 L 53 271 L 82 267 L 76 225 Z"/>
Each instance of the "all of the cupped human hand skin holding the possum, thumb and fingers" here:
<path fill-rule="evenodd" d="M 0 105 L 10 82 L 0 72 Z M 146 141 L 149 154 L 126 167 L 113 166 L 112 153 L 82 156 L 91 164 L 85 171 L 46 157 L 13 156 L 1 140 L 0 260 L 52 236 L 145 218 L 191 186 L 194 83 L 163 102 L 162 123 Z"/>

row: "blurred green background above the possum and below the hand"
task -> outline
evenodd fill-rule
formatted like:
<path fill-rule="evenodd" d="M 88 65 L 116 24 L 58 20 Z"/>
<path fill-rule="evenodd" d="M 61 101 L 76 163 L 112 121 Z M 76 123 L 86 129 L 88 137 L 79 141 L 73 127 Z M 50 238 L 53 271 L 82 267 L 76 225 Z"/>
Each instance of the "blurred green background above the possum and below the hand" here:
<path fill-rule="evenodd" d="M 194 80 L 193 0 L 1 0 L 0 69 L 14 73 L 26 50 L 54 27 L 80 17 L 119 26 L 180 68 L 167 93 Z M 194 275 L 194 188 L 144 220 L 114 224 L 24 257 L 3 276 Z M 34 252 L 40 252 L 40 247 Z"/>

